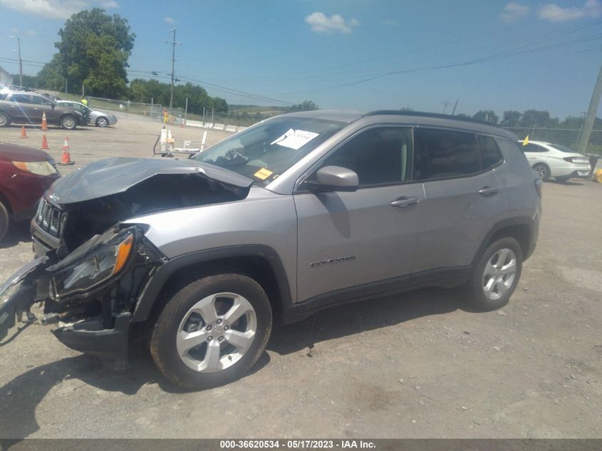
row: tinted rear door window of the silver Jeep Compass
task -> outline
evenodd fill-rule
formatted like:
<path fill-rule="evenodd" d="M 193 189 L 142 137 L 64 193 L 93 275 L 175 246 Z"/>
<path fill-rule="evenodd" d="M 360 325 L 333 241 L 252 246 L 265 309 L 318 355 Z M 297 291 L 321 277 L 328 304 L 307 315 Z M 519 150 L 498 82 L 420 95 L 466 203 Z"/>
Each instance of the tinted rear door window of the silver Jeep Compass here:
<path fill-rule="evenodd" d="M 414 130 L 416 180 L 461 177 L 482 170 L 477 135 L 450 130 Z"/>

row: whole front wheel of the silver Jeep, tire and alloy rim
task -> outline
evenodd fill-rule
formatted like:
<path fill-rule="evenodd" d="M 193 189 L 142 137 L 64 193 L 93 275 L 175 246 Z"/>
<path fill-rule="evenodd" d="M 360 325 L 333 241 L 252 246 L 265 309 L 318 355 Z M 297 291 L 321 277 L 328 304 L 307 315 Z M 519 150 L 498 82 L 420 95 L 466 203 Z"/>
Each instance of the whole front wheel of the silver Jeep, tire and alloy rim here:
<path fill-rule="evenodd" d="M 192 282 L 172 296 L 150 338 L 159 370 L 185 388 L 237 380 L 259 359 L 271 332 L 264 289 L 241 274 Z"/>

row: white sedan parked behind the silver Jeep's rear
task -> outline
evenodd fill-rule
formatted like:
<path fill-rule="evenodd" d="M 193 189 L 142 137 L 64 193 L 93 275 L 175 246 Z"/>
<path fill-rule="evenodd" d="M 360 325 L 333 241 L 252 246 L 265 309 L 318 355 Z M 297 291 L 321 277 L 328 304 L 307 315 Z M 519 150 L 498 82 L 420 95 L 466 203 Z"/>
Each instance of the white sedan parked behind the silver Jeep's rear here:
<path fill-rule="evenodd" d="M 591 172 L 589 158 L 564 145 L 531 140 L 526 145 L 524 141 L 519 141 L 519 145 L 529 165 L 543 180 L 554 177 L 563 181 L 573 177 L 587 177 Z"/>

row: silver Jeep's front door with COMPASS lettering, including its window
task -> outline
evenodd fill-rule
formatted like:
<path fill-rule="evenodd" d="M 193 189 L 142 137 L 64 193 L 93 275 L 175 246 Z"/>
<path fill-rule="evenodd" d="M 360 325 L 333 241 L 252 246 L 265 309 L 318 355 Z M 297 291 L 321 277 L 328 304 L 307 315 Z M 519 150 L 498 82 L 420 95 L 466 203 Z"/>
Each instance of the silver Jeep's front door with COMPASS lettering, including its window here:
<path fill-rule="evenodd" d="M 409 284 L 424 199 L 422 184 L 410 180 L 411 154 L 410 128 L 363 130 L 320 166 L 355 171 L 356 192 L 294 195 L 299 301 L 360 285 L 358 295 Z"/>

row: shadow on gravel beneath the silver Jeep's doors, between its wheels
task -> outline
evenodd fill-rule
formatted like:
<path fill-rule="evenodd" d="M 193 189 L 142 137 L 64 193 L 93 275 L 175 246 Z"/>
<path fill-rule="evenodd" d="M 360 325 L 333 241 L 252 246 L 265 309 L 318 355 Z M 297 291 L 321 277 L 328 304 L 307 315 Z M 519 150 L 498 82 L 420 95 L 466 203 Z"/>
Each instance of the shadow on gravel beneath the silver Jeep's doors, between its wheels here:
<path fill-rule="evenodd" d="M 276 326 L 268 350 L 281 355 L 311 348 L 316 343 L 327 346 L 333 338 L 404 323 L 422 316 L 442 315 L 462 309 L 472 311 L 455 290 L 422 289 L 395 296 L 360 301 L 316 313 L 313 317 Z"/>

